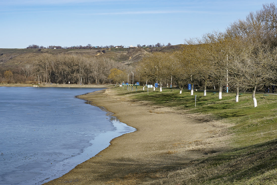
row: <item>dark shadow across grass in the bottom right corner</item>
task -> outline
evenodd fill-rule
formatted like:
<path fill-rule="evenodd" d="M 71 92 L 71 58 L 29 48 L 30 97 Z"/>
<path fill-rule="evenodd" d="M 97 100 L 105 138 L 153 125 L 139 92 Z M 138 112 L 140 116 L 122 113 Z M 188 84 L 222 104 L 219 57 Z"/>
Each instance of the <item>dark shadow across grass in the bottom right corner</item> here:
<path fill-rule="evenodd" d="M 275 184 L 276 171 L 272 170 L 277 168 L 276 151 L 277 139 L 231 149 L 194 160 L 191 165 L 171 172 L 171 177 L 163 179 L 162 183 L 178 179 L 176 184 L 245 184 L 249 181 L 251 184 Z M 261 175 L 264 175 L 262 179 Z"/>

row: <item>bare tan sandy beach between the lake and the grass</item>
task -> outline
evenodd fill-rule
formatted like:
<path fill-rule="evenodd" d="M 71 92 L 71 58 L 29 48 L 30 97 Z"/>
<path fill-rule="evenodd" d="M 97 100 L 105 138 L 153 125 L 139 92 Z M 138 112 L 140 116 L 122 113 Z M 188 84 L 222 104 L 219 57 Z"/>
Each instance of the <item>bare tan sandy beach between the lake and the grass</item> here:
<path fill-rule="evenodd" d="M 150 184 L 168 171 L 212 155 L 222 128 L 165 107 L 147 106 L 117 96 L 113 89 L 82 95 L 105 107 L 137 131 L 113 139 L 110 146 L 67 174 L 45 184 Z"/>

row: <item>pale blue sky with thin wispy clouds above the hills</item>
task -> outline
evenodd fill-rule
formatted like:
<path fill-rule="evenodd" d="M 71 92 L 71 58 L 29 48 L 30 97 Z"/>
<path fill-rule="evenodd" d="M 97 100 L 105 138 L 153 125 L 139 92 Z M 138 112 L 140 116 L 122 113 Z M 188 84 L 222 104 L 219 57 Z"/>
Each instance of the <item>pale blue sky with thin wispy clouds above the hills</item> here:
<path fill-rule="evenodd" d="M 260 0 L 0 0 L 0 48 L 172 45 L 225 31 Z"/>

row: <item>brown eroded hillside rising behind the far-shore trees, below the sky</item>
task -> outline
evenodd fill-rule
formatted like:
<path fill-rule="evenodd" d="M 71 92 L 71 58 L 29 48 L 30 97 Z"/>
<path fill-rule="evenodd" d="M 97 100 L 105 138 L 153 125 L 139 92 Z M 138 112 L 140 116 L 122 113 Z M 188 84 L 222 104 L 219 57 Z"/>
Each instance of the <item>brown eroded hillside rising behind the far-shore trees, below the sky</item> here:
<path fill-rule="evenodd" d="M 0 65 L 2 66 L 23 66 L 32 64 L 36 57 L 42 53 L 75 54 L 97 57 L 108 57 L 114 61 L 133 65 L 140 61 L 149 52 L 162 51 L 171 52 L 181 46 L 168 46 L 163 48 L 105 48 L 105 49 L 0 49 Z M 105 50 L 105 52 L 102 52 Z"/>

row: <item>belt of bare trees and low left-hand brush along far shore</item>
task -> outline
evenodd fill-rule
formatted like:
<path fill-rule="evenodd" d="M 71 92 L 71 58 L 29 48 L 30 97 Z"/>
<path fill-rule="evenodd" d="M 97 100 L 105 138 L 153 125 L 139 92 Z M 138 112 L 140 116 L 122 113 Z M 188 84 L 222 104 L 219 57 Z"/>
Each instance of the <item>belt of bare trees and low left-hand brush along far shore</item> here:
<path fill-rule="evenodd" d="M 56 84 L 104 84 L 109 82 L 111 69 L 125 70 L 129 68 L 110 58 L 80 55 L 41 54 L 35 65 L 25 64 L 23 67 L 0 68 L 1 83 L 37 83 Z"/>

